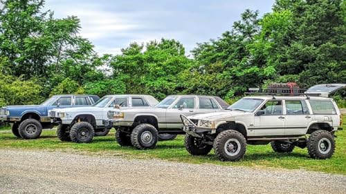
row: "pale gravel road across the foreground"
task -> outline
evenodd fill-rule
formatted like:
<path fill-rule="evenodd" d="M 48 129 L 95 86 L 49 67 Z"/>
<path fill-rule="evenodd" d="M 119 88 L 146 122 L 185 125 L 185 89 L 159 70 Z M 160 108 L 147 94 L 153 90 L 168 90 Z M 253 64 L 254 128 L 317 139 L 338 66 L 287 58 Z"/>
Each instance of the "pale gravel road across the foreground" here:
<path fill-rule="evenodd" d="M 346 176 L 0 150 L 0 193 L 346 193 Z"/>

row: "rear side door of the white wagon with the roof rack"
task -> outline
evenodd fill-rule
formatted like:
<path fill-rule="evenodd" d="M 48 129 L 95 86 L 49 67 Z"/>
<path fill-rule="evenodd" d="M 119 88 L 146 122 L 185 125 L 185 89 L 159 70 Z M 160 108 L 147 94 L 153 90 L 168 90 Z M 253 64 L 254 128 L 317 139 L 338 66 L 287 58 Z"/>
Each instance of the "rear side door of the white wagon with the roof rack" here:
<path fill-rule="evenodd" d="M 285 134 L 304 135 L 312 121 L 307 102 L 305 100 L 285 100 Z"/>

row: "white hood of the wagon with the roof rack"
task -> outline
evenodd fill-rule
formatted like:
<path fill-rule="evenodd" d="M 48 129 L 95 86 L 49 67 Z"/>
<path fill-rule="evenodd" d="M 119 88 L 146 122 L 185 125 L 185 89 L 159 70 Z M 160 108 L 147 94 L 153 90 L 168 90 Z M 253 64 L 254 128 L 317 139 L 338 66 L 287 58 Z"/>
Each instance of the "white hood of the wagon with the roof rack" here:
<path fill-rule="evenodd" d="M 229 110 L 229 111 L 222 111 L 222 112 L 192 115 L 188 118 L 189 119 L 208 120 L 208 121 L 217 121 L 217 120 L 228 119 L 230 117 L 246 116 L 246 115 L 252 115 L 252 114 L 253 113 L 244 113 L 243 111 L 238 111 L 238 110 L 233 110 L 233 111 Z"/>

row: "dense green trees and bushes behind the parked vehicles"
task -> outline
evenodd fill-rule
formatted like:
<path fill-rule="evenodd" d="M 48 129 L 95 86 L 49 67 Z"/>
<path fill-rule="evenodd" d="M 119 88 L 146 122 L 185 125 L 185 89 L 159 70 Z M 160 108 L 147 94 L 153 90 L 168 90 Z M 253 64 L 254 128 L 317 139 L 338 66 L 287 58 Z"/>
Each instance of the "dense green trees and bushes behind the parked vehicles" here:
<path fill-rule="evenodd" d="M 197 43 L 192 57 L 178 40 L 165 38 L 100 56 L 80 36 L 78 17 L 56 19 L 43 0 L 1 3 L 0 105 L 69 93 L 232 99 L 273 82 L 346 83 L 343 0 L 277 0 L 263 17 L 244 10 L 230 30 Z"/>

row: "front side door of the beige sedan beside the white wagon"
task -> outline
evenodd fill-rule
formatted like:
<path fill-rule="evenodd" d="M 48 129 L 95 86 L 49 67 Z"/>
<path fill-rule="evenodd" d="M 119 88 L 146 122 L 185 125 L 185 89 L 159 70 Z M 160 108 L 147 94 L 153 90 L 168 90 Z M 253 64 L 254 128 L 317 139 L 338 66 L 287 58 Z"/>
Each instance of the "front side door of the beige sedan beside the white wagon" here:
<path fill-rule="evenodd" d="M 195 97 L 180 97 L 174 102 L 171 108 L 166 110 L 167 128 L 181 128 L 180 115 L 196 114 L 196 98 Z"/>

